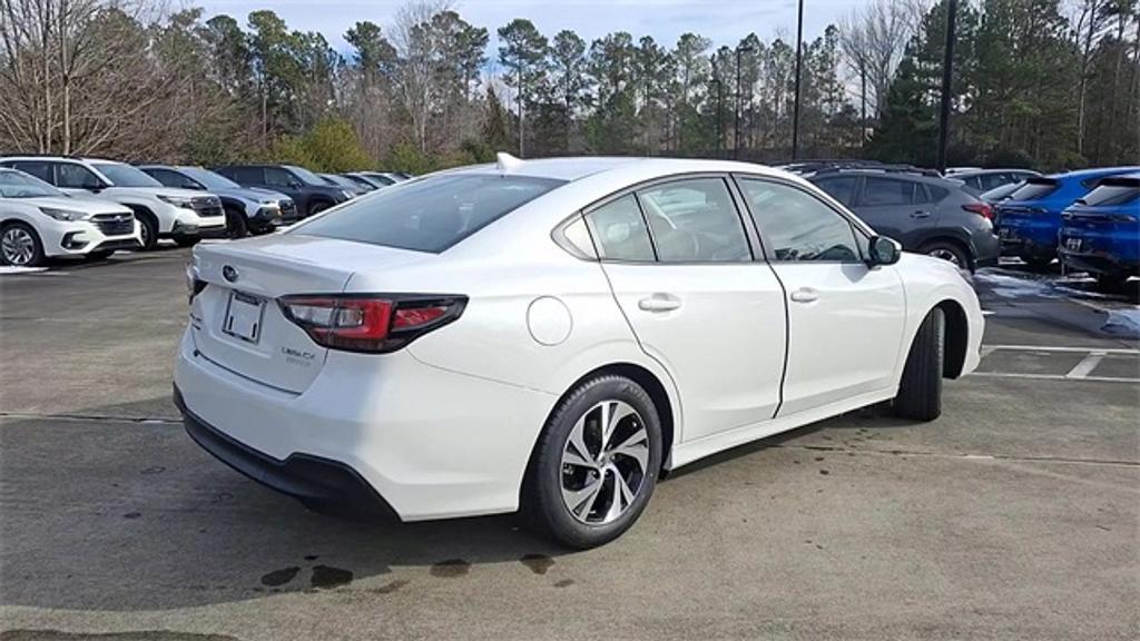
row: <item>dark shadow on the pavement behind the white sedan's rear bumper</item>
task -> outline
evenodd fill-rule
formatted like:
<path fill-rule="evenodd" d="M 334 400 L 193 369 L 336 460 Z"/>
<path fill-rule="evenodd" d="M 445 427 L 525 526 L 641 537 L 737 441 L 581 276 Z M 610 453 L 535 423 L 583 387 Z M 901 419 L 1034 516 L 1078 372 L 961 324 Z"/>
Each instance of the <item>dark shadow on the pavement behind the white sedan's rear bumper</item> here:
<path fill-rule="evenodd" d="M 135 611 L 385 594 L 409 573 L 478 581 L 480 566 L 508 563 L 526 577 L 565 553 L 514 516 L 376 524 L 310 512 L 171 422 L 8 417 L 0 486 L 5 606 Z"/>

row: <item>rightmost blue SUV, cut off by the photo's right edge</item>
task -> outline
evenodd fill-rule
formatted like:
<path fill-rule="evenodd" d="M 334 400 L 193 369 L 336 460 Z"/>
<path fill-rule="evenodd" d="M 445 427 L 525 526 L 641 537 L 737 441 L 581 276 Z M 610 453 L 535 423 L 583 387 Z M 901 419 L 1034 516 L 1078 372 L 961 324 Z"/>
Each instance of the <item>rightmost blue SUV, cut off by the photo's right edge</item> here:
<path fill-rule="evenodd" d="M 1066 209 L 1057 251 L 1106 290 L 1140 276 L 1140 172 L 1106 178 Z"/>

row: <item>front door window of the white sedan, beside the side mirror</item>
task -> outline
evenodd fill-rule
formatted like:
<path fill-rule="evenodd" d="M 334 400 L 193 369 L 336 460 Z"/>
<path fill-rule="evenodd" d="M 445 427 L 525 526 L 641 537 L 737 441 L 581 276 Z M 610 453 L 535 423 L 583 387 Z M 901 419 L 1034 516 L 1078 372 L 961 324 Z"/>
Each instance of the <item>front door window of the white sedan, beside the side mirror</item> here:
<path fill-rule="evenodd" d="M 740 185 L 776 260 L 862 262 L 852 224 L 819 198 L 766 180 Z"/>

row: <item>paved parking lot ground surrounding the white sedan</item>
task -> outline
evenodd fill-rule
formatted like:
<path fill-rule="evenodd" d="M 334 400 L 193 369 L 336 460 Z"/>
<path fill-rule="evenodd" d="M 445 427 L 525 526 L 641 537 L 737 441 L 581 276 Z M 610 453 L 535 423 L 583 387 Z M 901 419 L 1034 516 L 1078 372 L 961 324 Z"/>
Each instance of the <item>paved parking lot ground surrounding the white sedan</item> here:
<path fill-rule="evenodd" d="M 246 480 L 170 401 L 187 252 L 0 276 L 0 639 L 1137 639 L 1135 301 L 976 278 L 980 371 L 686 468 L 568 554 Z"/>

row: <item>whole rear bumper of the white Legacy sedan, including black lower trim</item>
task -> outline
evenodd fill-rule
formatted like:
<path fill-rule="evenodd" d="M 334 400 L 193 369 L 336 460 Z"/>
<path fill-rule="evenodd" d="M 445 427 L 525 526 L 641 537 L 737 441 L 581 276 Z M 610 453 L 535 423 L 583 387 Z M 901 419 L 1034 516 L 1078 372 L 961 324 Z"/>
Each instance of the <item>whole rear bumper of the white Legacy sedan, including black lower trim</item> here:
<path fill-rule="evenodd" d="M 190 332 L 174 383 L 187 431 L 228 465 L 302 500 L 360 503 L 353 512 L 374 513 L 378 498 L 404 521 L 516 510 L 557 399 L 424 365 L 407 350 L 329 352 L 294 393 L 213 363 Z"/>

